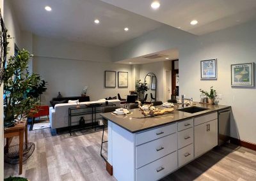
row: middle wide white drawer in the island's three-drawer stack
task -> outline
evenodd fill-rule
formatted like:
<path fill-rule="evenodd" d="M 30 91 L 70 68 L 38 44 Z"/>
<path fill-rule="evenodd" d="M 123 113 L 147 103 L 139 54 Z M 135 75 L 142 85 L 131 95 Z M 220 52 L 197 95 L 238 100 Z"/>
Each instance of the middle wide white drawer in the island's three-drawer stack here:
<path fill-rule="evenodd" d="M 135 150 L 136 168 L 140 168 L 177 150 L 177 133 L 140 145 Z"/>

